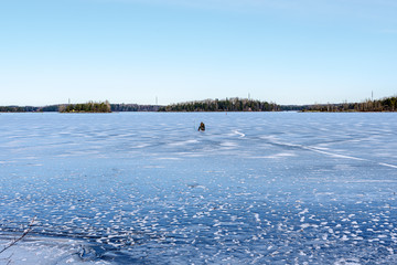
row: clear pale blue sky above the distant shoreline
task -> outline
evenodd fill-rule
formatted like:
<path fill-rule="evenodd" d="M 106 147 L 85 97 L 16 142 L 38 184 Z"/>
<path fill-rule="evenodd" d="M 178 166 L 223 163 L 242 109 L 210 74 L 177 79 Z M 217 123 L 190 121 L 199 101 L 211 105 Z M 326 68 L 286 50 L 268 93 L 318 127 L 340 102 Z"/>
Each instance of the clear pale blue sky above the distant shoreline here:
<path fill-rule="evenodd" d="M 397 94 L 395 0 L 3 0 L 0 105 Z"/>

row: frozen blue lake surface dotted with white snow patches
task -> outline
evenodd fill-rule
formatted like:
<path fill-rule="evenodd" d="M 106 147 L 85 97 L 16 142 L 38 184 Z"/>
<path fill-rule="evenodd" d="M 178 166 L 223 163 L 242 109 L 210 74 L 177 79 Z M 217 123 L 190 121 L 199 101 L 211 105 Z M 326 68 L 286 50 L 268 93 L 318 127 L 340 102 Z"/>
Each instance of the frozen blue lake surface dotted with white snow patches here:
<path fill-rule="evenodd" d="M 0 114 L 0 250 L 36 216 L 0 263 L 397 263 L 396 114 Z"/>

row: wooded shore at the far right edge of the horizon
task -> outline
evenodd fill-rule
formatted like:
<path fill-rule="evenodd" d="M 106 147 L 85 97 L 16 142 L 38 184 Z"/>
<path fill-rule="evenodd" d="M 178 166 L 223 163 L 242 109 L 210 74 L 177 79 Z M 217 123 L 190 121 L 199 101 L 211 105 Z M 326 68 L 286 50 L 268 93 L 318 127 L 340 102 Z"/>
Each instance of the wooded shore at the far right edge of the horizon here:
<path fill-rule="evenodd" d="M 305 106 L 302 112 L 322 112 L 322 113 L 341 113 L 341 112 L 396 112 L 397 97 L 385 97 L 377 100 L 366 99 L 362 103 L 341 103 L 341 104 L 322 104 Z"/>

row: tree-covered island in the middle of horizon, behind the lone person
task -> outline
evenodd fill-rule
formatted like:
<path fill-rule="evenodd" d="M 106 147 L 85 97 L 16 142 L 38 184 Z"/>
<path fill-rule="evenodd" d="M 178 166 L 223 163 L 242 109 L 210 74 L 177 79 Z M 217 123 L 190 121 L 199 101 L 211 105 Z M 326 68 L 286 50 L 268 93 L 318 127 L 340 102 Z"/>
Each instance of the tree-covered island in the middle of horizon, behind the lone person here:
<path fill-rule="evenodd" d="M 280 107 L 275 103 L 247 98 L 206 99 L 187 102 L 160 107 L 159 112 L 277 112 Z"/>

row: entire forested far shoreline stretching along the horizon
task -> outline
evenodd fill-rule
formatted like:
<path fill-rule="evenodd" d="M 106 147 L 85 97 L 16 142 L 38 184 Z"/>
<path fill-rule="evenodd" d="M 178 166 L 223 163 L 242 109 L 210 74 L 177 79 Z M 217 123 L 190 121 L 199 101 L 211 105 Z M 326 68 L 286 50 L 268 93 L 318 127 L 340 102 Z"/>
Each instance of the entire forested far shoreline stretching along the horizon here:
<path fill-rule="evenodd" d="M 248 98 L 205 99 L 168 106 L 139 104 L 110 104 L 108 100 L 84 104 L 57 104 L 43 107 L 0 106 L 0 113 L 111 113 L 111 112 L 397 112 L 397 96 L 366 99 L 361 103 L 278 105 Z"/>

